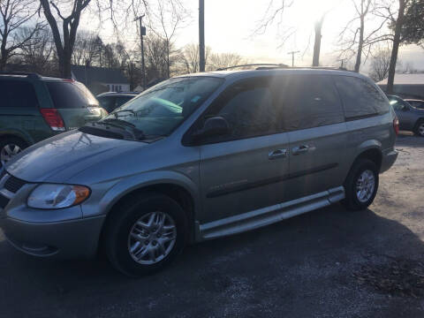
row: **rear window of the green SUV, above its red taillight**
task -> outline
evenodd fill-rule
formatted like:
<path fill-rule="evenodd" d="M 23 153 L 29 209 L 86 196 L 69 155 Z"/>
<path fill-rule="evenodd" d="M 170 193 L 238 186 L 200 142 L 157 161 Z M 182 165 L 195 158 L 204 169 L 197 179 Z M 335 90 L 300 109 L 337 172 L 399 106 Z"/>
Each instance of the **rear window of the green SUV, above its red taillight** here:
<path fill-rule="evenodd" d="M 57 109 L 98 106 L 99 102 L 83 84 L 78 82 L 47 82 L 51 99 Z"/>

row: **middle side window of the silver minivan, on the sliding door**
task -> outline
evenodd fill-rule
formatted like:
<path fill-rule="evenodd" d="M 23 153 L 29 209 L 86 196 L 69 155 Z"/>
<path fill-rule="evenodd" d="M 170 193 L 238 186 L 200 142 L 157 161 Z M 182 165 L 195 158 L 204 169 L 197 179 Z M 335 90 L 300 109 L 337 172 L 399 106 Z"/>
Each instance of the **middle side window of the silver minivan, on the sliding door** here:
<path fill-rule="evenodd" d="M 287 131 L 345 121 L 336 87 L 328 75 L 291 75 L 276 83 L 280 117 Z"/>

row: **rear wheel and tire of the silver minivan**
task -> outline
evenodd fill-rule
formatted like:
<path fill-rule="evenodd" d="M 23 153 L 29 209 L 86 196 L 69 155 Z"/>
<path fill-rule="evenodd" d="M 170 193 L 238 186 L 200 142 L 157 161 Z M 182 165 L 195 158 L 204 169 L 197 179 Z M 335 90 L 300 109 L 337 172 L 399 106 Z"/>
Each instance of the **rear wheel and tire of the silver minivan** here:
<path fill-rule="evenodd" d="M 378 190 L 378 169 L 374 162 L 360 159 L 353 163 L 345 181 L 345 208 L 358 211 L 373 203 Z"/>

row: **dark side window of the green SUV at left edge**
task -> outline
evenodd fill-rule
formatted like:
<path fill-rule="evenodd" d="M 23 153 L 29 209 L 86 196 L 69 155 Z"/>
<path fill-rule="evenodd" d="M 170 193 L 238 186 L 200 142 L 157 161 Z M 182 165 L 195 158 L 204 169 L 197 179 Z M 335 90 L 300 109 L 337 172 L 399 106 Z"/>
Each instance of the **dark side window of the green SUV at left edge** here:
<path fill-rule="evenodd" d="M 0 81 L 0 108 L 35 108 L 39 106 L 34 87 L 27 81 Z"/>

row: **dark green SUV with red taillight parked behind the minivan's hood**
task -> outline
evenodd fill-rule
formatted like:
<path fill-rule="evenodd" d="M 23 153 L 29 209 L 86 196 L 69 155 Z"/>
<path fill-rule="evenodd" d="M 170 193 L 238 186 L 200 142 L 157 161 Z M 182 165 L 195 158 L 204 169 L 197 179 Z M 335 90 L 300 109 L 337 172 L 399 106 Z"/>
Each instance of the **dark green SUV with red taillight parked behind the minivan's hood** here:
<path fill-rule="evenodd" d="M 107 115 L 83 84 L 0 72 L 0 167 L 35 142 Z"/>

